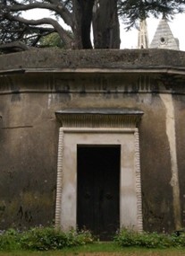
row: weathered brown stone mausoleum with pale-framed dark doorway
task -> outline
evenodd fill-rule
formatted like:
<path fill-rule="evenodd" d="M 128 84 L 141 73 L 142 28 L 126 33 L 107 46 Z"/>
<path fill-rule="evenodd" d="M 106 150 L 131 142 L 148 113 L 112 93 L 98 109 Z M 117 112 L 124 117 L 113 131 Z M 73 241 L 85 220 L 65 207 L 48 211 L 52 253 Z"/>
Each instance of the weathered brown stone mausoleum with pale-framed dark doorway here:
<path fill-rule="evenodd" d="M 185 52 L 0 56 L 0 228 L 185 225 Z"/>

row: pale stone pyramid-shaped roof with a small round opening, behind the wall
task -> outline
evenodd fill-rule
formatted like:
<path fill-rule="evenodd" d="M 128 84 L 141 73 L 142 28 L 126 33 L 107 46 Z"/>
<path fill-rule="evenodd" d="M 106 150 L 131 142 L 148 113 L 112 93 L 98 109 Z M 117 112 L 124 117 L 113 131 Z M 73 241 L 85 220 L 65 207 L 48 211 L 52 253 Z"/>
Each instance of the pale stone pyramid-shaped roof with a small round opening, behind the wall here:
<path fill-rule="evenodd" d="M 179 50 L 179 40 L 173 37 L 172 31 L 165 17 L 163 17 L 163 19 L 159 22 L 155 36 L 149 48 Z"/>

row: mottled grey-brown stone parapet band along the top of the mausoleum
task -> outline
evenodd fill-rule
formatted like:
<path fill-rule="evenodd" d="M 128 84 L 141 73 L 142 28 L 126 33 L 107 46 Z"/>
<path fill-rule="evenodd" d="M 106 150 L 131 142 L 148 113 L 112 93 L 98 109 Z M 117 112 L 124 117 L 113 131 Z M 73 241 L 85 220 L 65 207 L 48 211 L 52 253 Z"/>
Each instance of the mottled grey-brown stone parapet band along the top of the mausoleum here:
<path fill-rule="evenodd" d="M 169 49 L 52 50 L 36 49 L 0 56 L 0 72 L 63 71 L 77 68 L 136 69 L 184 67 L 185 52 Z"/>

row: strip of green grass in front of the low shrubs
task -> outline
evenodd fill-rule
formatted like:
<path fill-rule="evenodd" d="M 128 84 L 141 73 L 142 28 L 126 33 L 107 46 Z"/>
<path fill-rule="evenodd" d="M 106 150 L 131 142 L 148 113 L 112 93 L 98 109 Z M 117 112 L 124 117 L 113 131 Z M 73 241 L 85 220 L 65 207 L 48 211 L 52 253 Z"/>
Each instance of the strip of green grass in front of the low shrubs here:
<path fill-rule="evenodd" d="M 94 243 L 79 247 L 66 248 L 49 252 L 0 252 L 0 256 L 180 256 L 185 255 L 185 249 L 146 249 L 136 247 L 120 247 L 115 243 Z"/>

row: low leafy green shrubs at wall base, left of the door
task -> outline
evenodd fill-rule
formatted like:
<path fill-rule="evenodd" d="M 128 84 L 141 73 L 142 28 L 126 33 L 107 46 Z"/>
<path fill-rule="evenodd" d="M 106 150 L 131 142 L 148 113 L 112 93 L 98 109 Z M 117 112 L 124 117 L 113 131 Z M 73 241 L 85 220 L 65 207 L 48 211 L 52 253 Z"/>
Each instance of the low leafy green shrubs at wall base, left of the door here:
<path fill-rule="evenodd" d="M 26 232 L 9 229 L 0 234 L 0 251 L 12 250 L 60 250 L 93 243 L 94 238 L 89 231 L 71 230 L 63 232 L 51 227 L 35 227 Z"/>

